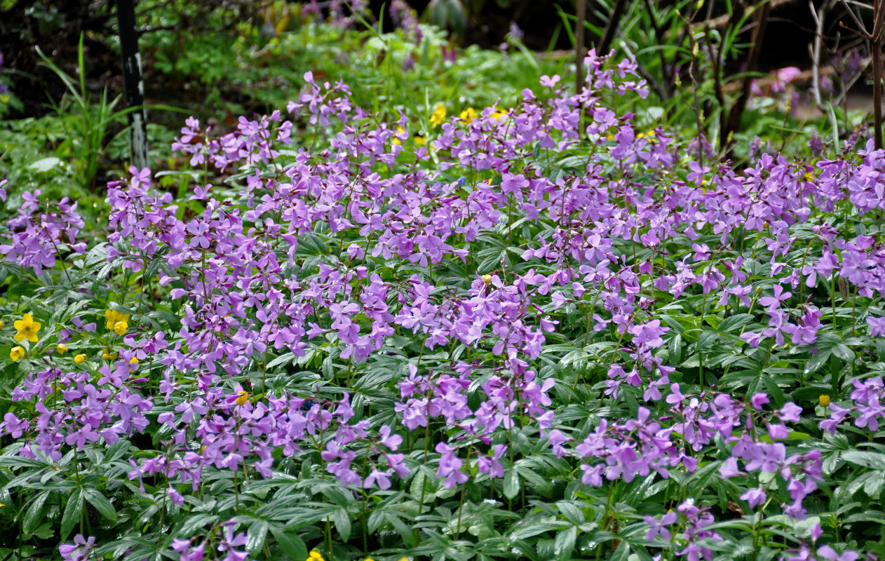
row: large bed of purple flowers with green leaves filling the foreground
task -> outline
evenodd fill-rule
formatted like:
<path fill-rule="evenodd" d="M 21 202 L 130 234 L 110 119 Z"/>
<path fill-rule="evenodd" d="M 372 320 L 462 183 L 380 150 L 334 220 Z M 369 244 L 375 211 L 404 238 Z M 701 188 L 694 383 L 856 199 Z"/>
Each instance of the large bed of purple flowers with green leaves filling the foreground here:
<path fill-rule="evenodd" d="M 101 224 L 21 193 L 4 556 L 881 556 L 885 152 L 711 163 L 585 62 L 462 111 L 304 73 Z"/>

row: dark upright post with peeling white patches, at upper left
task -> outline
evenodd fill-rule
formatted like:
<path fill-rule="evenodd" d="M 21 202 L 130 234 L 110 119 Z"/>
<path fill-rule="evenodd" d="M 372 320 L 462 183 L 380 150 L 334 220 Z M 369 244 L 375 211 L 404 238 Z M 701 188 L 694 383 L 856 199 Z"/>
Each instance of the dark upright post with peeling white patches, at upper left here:
<path fill-rule="evenodd" d="M 150 167 L 148 162 L 147 111 L 144 110 L 142 58 L 138 54 L 138 31 L 135 29 L 133 0 L 116 0 L 119 23 L 119 50 L 123 58 L 123 97 L 127 107 L 139 107 L 129 113 L 129 150 L 132 165 Z"/>

